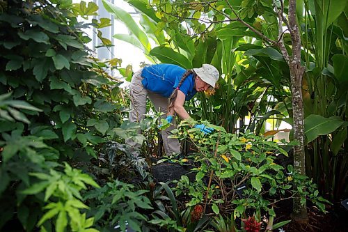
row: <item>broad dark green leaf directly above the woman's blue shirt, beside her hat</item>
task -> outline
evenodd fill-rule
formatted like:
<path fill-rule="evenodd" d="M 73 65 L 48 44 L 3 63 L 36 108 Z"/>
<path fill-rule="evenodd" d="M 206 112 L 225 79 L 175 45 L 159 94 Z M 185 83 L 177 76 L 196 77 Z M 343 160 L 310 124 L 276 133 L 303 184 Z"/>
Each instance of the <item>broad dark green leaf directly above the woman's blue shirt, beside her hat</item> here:
<path fill-rule="evenodd" d="M 169 47 L 155 47 L 150 51 L 152 56 L 155 56 L 162 63 L 172 63 L 179 65 L 182 68 L 192 68 L 192 63 L 184 55 L 175 52 Z"/>

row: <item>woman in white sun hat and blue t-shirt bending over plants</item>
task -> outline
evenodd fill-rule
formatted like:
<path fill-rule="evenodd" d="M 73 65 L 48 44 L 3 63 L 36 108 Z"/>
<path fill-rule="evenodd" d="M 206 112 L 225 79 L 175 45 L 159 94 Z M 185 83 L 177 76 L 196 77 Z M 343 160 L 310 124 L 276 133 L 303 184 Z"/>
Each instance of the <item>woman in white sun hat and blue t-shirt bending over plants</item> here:
<path fill-rule="evenodd" d="M 177 139 L 168 136 L 176 127 L 175 114 L 183 120 L 190 118 L 184 109 L 185 100 L 193 98 L 197 92 L 214 88 L 219 79 L 219 71 L 209 64 L 201 68 L 185 70 L 178 65 L 157 64 L 149 65 L 136 72 L 129 86 L 131 111 L 129 121 L 140 122 L 146 113 L 146 100 L 150 98 L 157 111 L 167 114 L 166 120 L 172 125 L 162 130 L 162 139 L 166 155 L 180 153 L 180 144 Z M 165 116 L 164 116 L 165 117 Z M 196 125 L 205 134 L 212 132 L 205 125 Z M 134 141 L 127 141 L 130 146 L 138 146 Z"/>

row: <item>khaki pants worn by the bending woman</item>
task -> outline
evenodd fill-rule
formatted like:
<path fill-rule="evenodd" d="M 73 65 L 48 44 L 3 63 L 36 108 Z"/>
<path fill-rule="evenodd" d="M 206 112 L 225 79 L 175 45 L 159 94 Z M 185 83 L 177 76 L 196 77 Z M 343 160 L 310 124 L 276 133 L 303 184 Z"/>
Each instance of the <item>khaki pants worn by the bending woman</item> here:
<path fill-rule="evenodd" d="M 129 113 L 129 121 L 131 122 L 140 122 L 145 118 L 146 114 L 146 100 L 147 97 L 150 98 L 152 104 L 155 106 L 157 112 L 160 110 L 164 114 L 162 118 L 166 118 L 168 98 L 164 98 L 157 93 L 146 90 L 141 83 L 143 77 L 141 77 L 141 71 L 134 73 L 132 77 L 132 82 L 129 85 L 129 95 L 131 100 L 131 111 Z M 166 155 L 172 155 L 173 153 L 180 153 L 180 144 L 177 139 L 168 138 L 171 135 L 171 130 L 176 128 L 175 118 L 171 122 L 170 127 L 166 130 L 162 130 L 162 139 L 164 144 L 164 150 L 166 150 Z M 139 131 L 141 133 L 141 131 Z M 141 144 L 136 144 L 132 140 L 126 141 L 129 146 L 140 148 Z"/>

